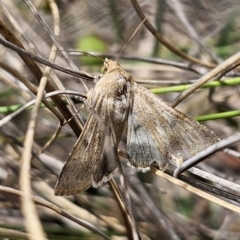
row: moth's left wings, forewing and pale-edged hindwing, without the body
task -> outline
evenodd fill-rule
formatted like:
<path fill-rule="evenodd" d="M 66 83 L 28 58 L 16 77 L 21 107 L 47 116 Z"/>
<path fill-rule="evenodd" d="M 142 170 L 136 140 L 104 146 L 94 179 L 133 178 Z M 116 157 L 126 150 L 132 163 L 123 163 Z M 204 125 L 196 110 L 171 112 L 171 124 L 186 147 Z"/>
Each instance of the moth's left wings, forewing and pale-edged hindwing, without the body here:
<path fill-rule="evenodd" d="M 92 185 L 97 187 L 112 177 L 117 168 L 117 149 L 109 126 L 100 125 L 94 116 L 89 116 L 62 169 L 55 195 L 76 194 Z"/>

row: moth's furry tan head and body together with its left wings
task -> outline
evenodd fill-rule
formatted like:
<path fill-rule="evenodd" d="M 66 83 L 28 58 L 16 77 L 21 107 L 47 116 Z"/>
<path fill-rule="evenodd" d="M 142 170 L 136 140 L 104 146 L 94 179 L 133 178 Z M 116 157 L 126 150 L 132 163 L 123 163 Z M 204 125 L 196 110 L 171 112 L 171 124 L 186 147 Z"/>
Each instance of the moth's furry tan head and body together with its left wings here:
<path fill-rule="evenodd" d="M 70 195 L 108 181 L 117 169 L 117 145 L 131 105 L 131 75 L 106 60 L 106 73 L 88 94 L 87 123 L 66 161 L 55 187 Z"/>

